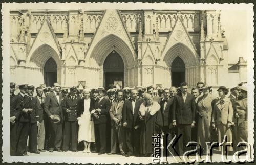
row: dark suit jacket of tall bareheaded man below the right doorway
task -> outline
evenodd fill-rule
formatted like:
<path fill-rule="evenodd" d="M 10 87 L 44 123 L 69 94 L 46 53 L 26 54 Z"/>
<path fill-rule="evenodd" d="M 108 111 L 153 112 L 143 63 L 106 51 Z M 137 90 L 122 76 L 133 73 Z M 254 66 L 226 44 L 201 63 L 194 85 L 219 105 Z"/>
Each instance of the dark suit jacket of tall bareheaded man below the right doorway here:
<path fill-rule="evenodd" d="M 195 121 L 196 103 L 195 97 L 187 93 L 184 102 L 182 94 L 175 95 L 173 100 L 172 115 L 173 120 L 178 124 L 191 124 Z"/>

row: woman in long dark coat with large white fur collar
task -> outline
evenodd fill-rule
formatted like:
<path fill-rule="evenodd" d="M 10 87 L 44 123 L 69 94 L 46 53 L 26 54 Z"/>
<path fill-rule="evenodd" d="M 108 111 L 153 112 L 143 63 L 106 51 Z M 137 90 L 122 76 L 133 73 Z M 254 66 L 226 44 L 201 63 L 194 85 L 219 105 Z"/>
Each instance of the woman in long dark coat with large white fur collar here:
<path fill-rule="evenodd" d="M 153 152 L 152 136 L 156 133 L 158 112 L 160 105 L 153 102 L 151 95 L 144 95 L 145 102 L 141 104 L 139 115 L 141 120 L 140 134 L 140 154 L 141 156 L 151 156 Z M 159 113 L 160 115 L 160 113 Z"/>

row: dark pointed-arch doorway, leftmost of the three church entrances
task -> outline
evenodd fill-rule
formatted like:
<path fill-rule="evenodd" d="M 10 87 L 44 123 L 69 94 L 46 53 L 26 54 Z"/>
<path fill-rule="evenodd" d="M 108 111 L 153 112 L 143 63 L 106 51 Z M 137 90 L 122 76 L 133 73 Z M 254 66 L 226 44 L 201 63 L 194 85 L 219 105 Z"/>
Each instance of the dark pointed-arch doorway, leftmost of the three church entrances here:
<path fill-rule="evenodd" d="M 46 86 L 53 86 L 53 83 L 57 82 L 57 64 L 52 57 L 44 66 L 44 80 Z"/>

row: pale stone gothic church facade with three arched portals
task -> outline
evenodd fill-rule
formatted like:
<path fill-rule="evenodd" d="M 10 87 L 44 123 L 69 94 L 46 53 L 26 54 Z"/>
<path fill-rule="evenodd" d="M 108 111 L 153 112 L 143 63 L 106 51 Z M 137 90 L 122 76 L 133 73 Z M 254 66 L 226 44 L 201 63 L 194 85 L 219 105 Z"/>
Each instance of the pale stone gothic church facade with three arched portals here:
<path fill-rule="evenodd" d="M 10 81 L 230 86 L 247 79 L 247 63 L 228 62 L 220 18 L 218 10 L 10 11 Z"/>

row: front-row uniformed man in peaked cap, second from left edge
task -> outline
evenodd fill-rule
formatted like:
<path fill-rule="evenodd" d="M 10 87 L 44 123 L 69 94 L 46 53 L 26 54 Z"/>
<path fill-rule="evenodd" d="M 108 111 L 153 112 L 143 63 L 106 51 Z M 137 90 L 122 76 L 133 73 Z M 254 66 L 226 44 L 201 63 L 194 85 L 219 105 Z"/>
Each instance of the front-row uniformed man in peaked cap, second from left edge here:
<path fill-rule="evenodd" d="M 27 154 L 27 140 L 29 135 L 30 126 L 30 112 L 33 111 L 31 106 L 31 99 L 26 95 L 27 84 L 19 85 L 19 93 L 17 97 L 17 103 L 19 104 L 20 112 L 19 122 L 17 128 L 17 156 L 28 156 Z"/>

